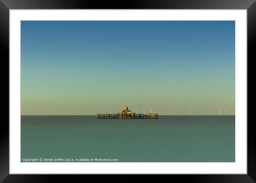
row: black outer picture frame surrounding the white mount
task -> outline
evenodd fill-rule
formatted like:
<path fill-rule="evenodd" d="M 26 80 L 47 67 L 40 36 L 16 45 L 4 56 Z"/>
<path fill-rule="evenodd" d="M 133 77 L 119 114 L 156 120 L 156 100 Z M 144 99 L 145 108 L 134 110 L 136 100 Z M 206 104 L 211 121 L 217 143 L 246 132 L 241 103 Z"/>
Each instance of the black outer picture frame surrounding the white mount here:
<path fill-rule="evenodd" d="M 10 9 L 246 9 L 247 10 L 247 78 L 255 81 L 253 74 L 253 61 L 256 51 L 256 2 L 255 0 L 124 0 L 102 1 L 97 0 L 0 0 L 0 54 L 1 54 L 1 111 L 9 106 L 9 10 Z M 3 71 L 6 71 L 3 72 Z M 248 82 L 247 81 L 247 82 Z M 256 90 L 247 85 L 247 95 L 250 96 L 248 104 L 256 102 Z M 8 96 L 8 97 L 7 97 Z M 247 107 L 248 114 L 255 111 L 255 106 Z M 250 114 L 251 114 L 250 113 Z M 92 175 L 28 175 L 9 174 L 9 116 L 1 120 L 0 133 L 0 182 L 3 183 L 41 183 L 41 182 L 74 182 L 76 178 L 92 178 Z M 249 116 L 248 116 L 249 117 Z M 253 183 L 256 182 L 256 143 L 253 121 L 247 120 L 247 174 L 176 174 L 163 175 L 165 178 L 178 182 L 196 183 Z M 168 176 L 168 177 L 167 177 Z M 159 176 L 149 176 L 151 180 Z M 118 175 L 114 179 L 118 182 L 130 182 L 138 175 Z M 143 176 L 144 178 L 144 176 Z M 114 181 L 112 175 L 94 176 L 94 181 Z M 145 180 L 145 179 L 144 179 Z"/>

